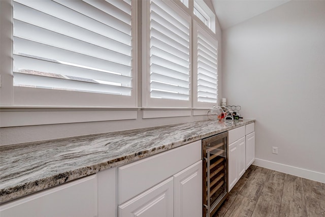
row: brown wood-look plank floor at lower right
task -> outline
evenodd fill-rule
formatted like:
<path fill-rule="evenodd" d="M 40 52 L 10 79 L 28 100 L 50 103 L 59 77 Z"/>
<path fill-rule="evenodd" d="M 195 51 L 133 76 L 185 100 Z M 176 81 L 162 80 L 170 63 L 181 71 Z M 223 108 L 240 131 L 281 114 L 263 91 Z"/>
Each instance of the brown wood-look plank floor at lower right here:
<path fill-rule="evenodd" d="M 217 216 L 324 217 L 325 184 L 252 165 Z"/>

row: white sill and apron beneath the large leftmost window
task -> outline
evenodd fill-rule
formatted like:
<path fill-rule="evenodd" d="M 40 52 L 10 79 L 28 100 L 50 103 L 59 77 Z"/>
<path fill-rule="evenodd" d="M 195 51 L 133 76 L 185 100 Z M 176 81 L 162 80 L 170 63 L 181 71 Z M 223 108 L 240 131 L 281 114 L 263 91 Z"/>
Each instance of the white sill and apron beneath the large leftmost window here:
<path fill-rule="evenodd" d="M 137 119 L 139 108 L 1 106 L 0 127 Z"/>

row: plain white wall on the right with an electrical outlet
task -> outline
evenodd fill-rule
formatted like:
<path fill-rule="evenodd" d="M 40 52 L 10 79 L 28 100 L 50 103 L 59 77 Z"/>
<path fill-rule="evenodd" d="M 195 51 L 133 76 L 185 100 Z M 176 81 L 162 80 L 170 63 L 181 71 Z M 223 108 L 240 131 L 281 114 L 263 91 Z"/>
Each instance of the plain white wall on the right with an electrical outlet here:
<path fill-rule="evenodd" d="M 223 97 L 256 118 L 257 163 L 325 182 L 325 1 L 290 1 L 222 39 Z"/>

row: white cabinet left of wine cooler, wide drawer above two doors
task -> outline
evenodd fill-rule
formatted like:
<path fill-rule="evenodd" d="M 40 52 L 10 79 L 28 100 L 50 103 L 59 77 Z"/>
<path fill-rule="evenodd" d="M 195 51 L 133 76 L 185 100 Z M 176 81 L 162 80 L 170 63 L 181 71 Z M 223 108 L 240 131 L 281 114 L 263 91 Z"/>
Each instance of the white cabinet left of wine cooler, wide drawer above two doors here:
<path fill-rule="evenodd" d="M 202 143 L 117 169 L 118 216 L 202 217 Z"/>

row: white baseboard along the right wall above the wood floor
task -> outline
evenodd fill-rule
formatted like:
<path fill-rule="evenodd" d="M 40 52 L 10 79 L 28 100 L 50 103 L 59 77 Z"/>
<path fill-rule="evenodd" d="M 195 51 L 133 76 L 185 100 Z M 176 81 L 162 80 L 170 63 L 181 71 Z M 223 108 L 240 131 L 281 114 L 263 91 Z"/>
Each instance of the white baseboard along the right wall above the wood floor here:
<path fill-rule="evenodd" d="M 262 159 L 255 159 L 253 165 L 325 183 L 325 173 L 315 172 Z"/>

